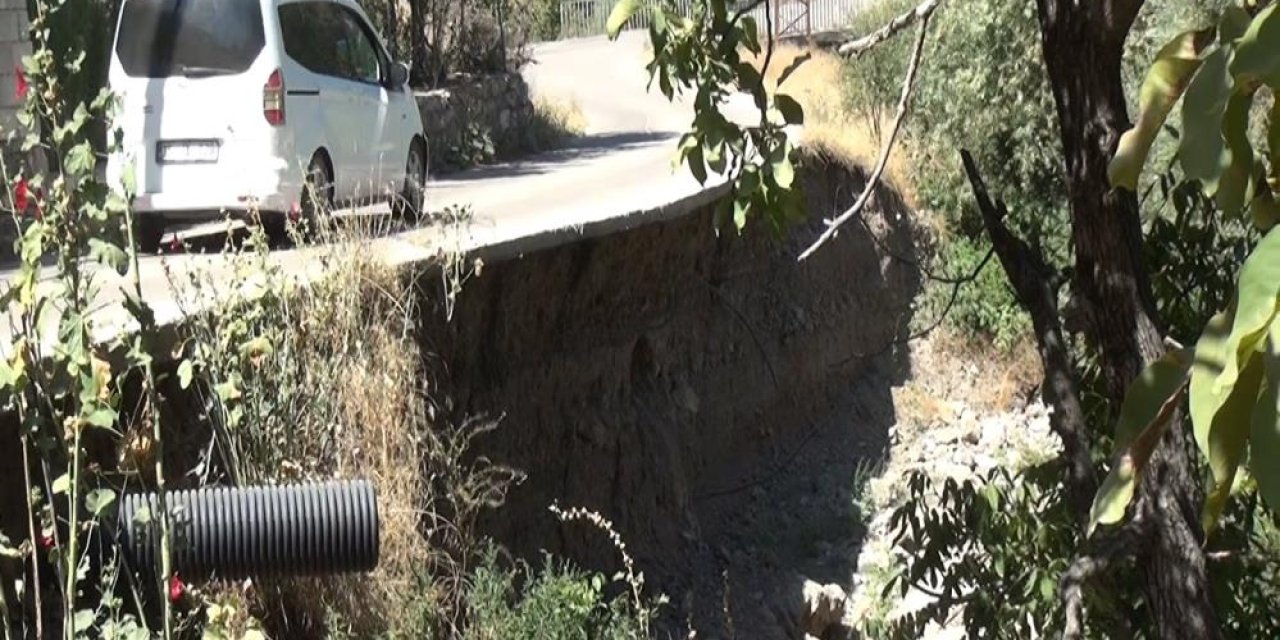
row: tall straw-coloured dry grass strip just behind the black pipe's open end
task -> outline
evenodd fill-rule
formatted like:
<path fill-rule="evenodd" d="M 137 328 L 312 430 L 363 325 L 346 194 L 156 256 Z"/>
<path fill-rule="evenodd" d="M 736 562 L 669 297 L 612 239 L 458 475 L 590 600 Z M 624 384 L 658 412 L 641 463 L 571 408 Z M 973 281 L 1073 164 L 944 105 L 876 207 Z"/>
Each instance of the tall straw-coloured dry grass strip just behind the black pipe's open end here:
<path fill-rule="evenodd" d="M 325 605 L 365 636 L 417 623 L 404 616 L 421 595 L 416 570 L 428 559 L 417 516 L 426 503 L 417 434 L 428 420 L 417 393 L 420 353 L 408 284 L 367 255 L 343 260 L 346 269 L 334 270 L 307 312 L 315 328 L 334 332 L 334 339 L 319 340 L 321 348 L 325 342 L 347 344 L 355 356 L 343 358 L 342 378 L 330 380 L 340 407 L 332 475 L 364 476 L 378 488 L 381 557 L 369 575 L 317 580 L 315 586 Z M 325 357 L 320 349 L 315 355 Z"/>

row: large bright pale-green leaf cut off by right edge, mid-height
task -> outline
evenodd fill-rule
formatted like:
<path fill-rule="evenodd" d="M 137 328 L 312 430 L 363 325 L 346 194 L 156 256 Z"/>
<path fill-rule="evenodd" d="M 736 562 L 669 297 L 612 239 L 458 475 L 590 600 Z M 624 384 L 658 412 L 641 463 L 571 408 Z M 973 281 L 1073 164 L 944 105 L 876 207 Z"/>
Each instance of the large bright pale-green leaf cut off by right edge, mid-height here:
<path fill-rule="evenodd" d="M 1271 229 L 1240 269 L 1236 287 L 1236 310 L 1231 334 L 1226 337 L 1222 372 L 1213 381 L 1215 393 L 1229 393 L 1243 369 L 1240 362 L 1266 337 L 1276 315 L 1280 296 L 1280 230 Z"/>

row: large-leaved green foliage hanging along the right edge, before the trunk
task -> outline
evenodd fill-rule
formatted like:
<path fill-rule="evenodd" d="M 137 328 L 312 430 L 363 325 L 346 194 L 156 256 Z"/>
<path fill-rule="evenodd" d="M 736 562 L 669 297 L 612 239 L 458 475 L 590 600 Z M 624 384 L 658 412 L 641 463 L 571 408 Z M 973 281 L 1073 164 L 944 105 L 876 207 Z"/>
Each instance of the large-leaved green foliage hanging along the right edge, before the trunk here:
<path fill-rule="evenodd" d="M 1261 9 L 1261 10 L 1260 10 Z M 1135 381 L 1125 406 L 1147 407 L 1135 424 L 1121 412 L 1116 458 L 1094 500 L 1091 525 L 1119 522 L 1143 471 L 1148 434 L 1185 394 L 1196 444 L 1212 470 L 1203 526 L 1211 532 L 1245 466 L 1266 504 L 1280 507 L 1280 5 L 1226 8 L 1216 27 L 1185 32 L 1156 56 L 1142 86 L 1138 122 L 1108 166 L 1115 188 L 1134 189 L 1152 140 L 1181 101 L 1178 160 L 1225 216 L 1265 232 L 1239 274 L 1234 300 L 1211 317 L 1194 351 L 1158 361 Z M 1249 113 L 1263 88 L 1272 96 L 1267 151 L 1249 136 Z M 1162 407 L 1158 412 L 1151 407 Z M 1140 426 L 1140 431 L 1138 428 Z M 1140 435 L 1139 435 L 1140 434 Z"/>

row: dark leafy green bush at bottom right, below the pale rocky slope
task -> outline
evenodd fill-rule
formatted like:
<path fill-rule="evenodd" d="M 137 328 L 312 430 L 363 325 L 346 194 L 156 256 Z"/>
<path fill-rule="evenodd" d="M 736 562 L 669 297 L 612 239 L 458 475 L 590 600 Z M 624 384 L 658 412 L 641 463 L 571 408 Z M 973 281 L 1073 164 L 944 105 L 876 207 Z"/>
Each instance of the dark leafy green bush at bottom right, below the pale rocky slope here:
<path fill-rule="evenodd" d="M 964 605 L 965 637 L 1041 637 L 1061 628 L 1059 582 L 1079 544 L 1061 474 L 1059 461 L 964 481 L 911 474 L 909 498 L 890 525 L 905 553 L 882 596 L 910 589 L 938 596 L 897 620 L 869 620 L 868 636 L 920 637 L 931 622 L 952 620 L 956 604 Z M 1112 579 L 1132 579 L 1123 573 Z M 1120 628 L 1115 617 L 1132 614 L 1133 603 L 1087 602 L 1097 625 L 1088 637 L 1111 637 Z"/>

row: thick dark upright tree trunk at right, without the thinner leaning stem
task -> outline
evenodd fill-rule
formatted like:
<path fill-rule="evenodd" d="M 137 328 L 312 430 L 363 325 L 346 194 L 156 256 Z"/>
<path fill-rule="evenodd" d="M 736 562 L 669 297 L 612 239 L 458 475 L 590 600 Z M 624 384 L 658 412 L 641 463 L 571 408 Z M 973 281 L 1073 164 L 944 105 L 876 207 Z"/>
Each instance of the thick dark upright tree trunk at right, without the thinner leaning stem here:
<path fill-rule="evenodd" d="M 1142 260 L 1133 192 L 1111 189 L 1107 164 L 1129 127 L 1120 69 L 1124 40 L 1142 0 L 1037 0 L 1050 84 L 1057 105 L 1075 247 L 1074 294 L 1084 333 L 1098 349 L 1107 394 L 1164 355 L 1162 332 Z M 1149 522 L 1135 549 L 1158 637 L 1221 637 L 1199 539 L 1199 483 L 1187 429 L 1169 429 L 1139 488 Z"/>

